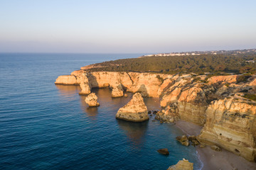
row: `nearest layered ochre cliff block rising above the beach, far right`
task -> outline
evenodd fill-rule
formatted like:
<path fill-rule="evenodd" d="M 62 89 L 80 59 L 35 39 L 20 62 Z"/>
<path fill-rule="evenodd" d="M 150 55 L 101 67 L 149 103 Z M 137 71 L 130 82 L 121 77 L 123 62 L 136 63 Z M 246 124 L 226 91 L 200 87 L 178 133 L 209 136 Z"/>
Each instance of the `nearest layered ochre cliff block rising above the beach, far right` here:
<path fill-rule="evenodd" d="M 218 145 L 245 159 L 256 159 L 256 102 L 228 97 L 213 101 L 198 140 Z"/>

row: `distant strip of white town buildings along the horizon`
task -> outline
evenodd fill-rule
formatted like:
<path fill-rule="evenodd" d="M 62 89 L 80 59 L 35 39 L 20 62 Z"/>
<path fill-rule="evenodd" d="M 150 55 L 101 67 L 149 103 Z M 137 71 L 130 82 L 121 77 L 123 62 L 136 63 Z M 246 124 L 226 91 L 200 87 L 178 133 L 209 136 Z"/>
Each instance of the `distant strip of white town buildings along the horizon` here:
<path fill-rule="evenodd" d="M 170 53 L 159 53 L 159 54 L 153 54 L 153 55 L 142 55 L 141 57 L 184 56 L 184 55 L 221 55 L 221 54 L 228 54 L 228 55 L 256 54 L 256 49 L 170 52 Z"/>

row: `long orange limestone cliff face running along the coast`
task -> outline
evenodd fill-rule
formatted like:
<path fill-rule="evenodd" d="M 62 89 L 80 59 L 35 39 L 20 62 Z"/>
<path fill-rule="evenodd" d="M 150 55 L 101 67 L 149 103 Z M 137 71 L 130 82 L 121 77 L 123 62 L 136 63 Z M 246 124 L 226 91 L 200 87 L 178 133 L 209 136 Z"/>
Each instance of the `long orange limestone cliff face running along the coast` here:
<path fill-rule="evenodd" d="M 110 87 L 112 96 L 122 96 L 124 91 L 129 91 L 139 92 L 143 97 L 159 97 L 163 108 L 156 115 L 159 120 L 172 123 L 181 119 L 204 126 L 199 136 L 201 142 L 255 159 L 255 75 L 210 77 L 78 70 L 58 77 L 55 84 L 83 85 L 85 82 L 91 88 Z M 121 109 L 120 113 L 129 111 Z"/>

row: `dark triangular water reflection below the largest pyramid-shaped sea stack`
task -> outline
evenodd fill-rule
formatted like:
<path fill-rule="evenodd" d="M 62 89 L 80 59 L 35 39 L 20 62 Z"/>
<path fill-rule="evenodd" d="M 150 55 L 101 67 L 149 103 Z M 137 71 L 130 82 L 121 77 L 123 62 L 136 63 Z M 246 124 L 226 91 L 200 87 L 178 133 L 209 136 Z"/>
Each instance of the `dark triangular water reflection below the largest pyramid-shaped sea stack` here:
<path fill-rule="evenodd" d="M 144 144 L 144 135 L 149 125 L 149 121 L 134 123 L 126 120 L 117 119 L 119 128 L 127 135 L 127 138 L 135 147 L 142 147 Z"/>

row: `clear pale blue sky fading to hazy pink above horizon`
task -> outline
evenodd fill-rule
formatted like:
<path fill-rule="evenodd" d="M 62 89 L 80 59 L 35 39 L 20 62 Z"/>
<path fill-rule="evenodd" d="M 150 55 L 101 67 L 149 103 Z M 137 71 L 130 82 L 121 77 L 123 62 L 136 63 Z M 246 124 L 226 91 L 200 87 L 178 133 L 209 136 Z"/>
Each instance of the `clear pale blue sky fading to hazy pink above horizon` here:
<path fill-rule="evenodd" d="M 0 0 L 0 52 L 255 47 L 255 0 Z"/>

